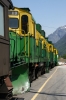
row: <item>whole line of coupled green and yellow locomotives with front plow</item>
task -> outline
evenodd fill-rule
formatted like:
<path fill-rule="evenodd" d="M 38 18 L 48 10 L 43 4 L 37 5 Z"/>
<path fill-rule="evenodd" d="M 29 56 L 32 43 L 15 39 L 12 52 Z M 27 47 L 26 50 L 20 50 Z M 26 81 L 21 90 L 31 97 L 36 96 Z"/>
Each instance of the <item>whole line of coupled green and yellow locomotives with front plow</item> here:
<path fill-rule="evenodd" d="M 13 94 L 23 93 L 34 79 L 57 64 L 58 53 L 29 8 L 9 10 L 9 37 Z"/>

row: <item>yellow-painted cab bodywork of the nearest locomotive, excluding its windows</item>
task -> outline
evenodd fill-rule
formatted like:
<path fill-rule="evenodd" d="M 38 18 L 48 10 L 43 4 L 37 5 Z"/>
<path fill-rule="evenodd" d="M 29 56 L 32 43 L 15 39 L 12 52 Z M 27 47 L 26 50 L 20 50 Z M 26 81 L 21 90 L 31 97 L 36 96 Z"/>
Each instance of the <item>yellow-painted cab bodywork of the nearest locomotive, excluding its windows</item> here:
<path fill-rule="evenodd" d="M 12 29 L 12 31 L 15 31 L 16 33 L 18 33 L 21 36 L 24 36 L 23 30 L 21 28 L 21 24 L 22 24 L 21 23 L 21 17 L 22 17 L 22 15 L 27 15 L 28 16 L 28 24 L 27 24 L 28 32 L 30 33 L 31 36 L 35 35 L 35 30 L 34 30 L 35 22 L 33 21 L 32 14 L 30 12 L 27 12 L 26 10 L 23 10 L 23 9 L 20 9 L 20 8 L 17 8 L 17 7 L 15 7 L 14 10 L 9 10 L 9 11 L 17 11 L 18 12 L 18 15 L 16 15 L 16 16 L 15 15 L 9 15 L 9 18 L 18 18 L 18 20 L 19 20 L 18 29 Z M 10 28 L 9 28 L 9 30 L 10 30 Z M 25 34 L 25 36 L 29 36 L 29 34 L 27 33 L 27 34 Z"/>

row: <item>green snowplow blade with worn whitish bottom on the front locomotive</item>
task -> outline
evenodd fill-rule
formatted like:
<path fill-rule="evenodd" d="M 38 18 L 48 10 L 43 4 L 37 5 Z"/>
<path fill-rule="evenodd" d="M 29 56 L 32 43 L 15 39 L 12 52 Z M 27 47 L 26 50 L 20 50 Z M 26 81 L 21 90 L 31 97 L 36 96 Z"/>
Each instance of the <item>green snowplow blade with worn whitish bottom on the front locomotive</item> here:
<path fill-rule="evenodd" d="M 30 88 L 28 64 L 12 68 L 13 94 L 24 93 Z"/>

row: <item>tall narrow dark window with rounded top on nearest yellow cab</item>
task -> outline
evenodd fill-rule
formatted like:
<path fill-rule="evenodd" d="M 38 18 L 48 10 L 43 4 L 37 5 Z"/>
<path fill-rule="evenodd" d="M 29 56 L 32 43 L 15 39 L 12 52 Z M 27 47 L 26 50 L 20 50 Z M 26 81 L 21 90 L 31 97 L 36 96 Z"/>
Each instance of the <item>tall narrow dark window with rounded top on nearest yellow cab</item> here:
<path fill-rule="evenodd" d="M 22 31 L 23 33 L 28 33 L 28 16 L 23 15 L 21 18 L 21 25 L 22 25 Z"/>

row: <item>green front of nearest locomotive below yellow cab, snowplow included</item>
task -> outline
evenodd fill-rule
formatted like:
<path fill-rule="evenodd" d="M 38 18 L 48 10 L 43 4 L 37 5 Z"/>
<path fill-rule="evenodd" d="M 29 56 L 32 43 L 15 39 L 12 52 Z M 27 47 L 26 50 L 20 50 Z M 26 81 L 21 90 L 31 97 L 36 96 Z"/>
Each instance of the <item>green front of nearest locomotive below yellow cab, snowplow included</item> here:
<path fill-rule="evenodd" d="M 28 49 L 25 51 L 25 38 L 20 37 L 15 32 L 9 33 L 10 37 L 10 62 L 16 66 L 11 65 L 12 69 L 12 84 L 13 94 L 19 94 L 27 91 L 30 87 L 29 82 L 29 67 L 28 67 Z M 28 38 L 26 39 L 26 48 L 28 45 Z M 26 55 L 25 55 L 26 53 Z M 20 64 L 21 61 L 24 61 Z"/>

